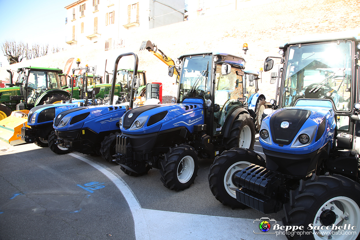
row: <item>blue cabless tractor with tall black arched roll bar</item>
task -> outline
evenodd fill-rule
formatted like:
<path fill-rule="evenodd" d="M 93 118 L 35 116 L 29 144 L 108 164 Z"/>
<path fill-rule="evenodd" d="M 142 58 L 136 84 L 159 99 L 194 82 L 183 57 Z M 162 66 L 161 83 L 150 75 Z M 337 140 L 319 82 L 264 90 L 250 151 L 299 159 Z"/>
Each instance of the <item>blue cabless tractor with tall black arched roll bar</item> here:
<path fill-rule="evenodd" d="M 131 55 L 134 56 L 135 64 L 129 94 L 130 106 L 127 103 L 118 104 L 114 99 L 117 74 L 113 74 L 111 105 L 72 108 L 55 117 L 54 141 L 58 148 L 67 148 L 89 155 L 101 155 L 109 162 L 114 159 L 116 135 L 121 133 L 119 119 L 129 110 L 129 107 L 132 108 L 136 89 L 140 85 L 140 79 L 137 78 L 139 59 L 135 53 L 120 54 L 114 65 L 114 73 L 116 73 L 120 59 Z"/>

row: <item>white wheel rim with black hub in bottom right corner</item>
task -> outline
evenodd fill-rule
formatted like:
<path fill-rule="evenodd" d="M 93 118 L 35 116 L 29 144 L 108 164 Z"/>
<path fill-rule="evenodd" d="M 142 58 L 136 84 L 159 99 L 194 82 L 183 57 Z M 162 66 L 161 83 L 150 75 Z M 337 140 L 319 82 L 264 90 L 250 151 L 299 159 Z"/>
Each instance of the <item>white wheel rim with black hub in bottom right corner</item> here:
<path fill-rule="evenodd" d="M 332 226 L 332 224 L 335 226 L 344 226 L 344 224 L 351 224 L 351 226 L 356 226 L 356 230 L 312 230 L 314 238 L 316 240 L 355 240 L 360 232 L 359 215 L 359 206 L 348 197 L 334 197 L 328 200 L 316 213 L 313 226 Z M 356 232 L 356 234 L 354 234 L 354 232 Z M 329 235 L 331 235 L 331 237 L 329 237 Z"/>

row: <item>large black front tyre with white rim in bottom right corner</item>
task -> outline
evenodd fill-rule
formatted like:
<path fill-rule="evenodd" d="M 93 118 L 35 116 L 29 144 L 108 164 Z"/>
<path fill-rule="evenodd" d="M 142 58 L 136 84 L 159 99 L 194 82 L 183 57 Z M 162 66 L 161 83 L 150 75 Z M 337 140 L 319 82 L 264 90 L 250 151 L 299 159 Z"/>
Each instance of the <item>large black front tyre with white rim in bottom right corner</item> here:
<path fill-rule="evenodd" d="M 288 239 L 343 239 L 355 240 L 360 232 L 360 184 L 342 175 L 315 176 L 300 181 L 290 192 L 290 201 L 284 205 L 284 226 L 304 226 L 309 234 L 287 235 Z M 327 230 L 344 224 L 355 230 Z M 309 225 L 313 229 L 309 229 Z M 324 230 L 319 229 L 325 226 Z M 318 228 L 318 229 L 317 229 Z M 295 231 L 296 232 L 296 231 Z"/>

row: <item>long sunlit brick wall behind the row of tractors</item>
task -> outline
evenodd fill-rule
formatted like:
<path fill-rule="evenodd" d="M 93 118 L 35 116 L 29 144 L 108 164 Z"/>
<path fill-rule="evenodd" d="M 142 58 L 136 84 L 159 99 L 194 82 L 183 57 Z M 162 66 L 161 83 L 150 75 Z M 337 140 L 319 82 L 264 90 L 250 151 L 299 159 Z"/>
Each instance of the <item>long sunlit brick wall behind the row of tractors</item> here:
<path fill-rule="evenodd" d="M 360 0 L 274 0 L 261 3 L 232 12 L 129 33 L 124 48 L 104 51 L 104 46 L 94 43 L 92 48 L 78 47 L 23 61 L 11 65 L 11 68 L 26 65 L 63 68 L 67 59 L 74 57 L 81 58 L 83 66 L 86 63 L 97 65 L 97 74 L 103 76 L 105 59 L 106 70 L 110 72 L 120 53 L 135 52 L 139 56 L 139 69 L 147 71 L 148 81 L 163 83 L 163 95 L 175 96 L 175 77 L 167 76 L 167 66 L 148 51 L 138 51 L 142 41 L 152 41 L 173 59 L 185 53 L 211 50 L 240 55 L 246 59 L 248 70 L 259 71 L 265 58 L 277 56 L 278 46 L 294 36 L 355 30 L 360 22 Z M 242 50 L 243 43 L 249 47 L 246 55 Z M 133 62 L 130 62 L 119 63 L 119 67 L 127 64 L 132 68 Z M 261 76 L 260 91 L 265 93 L 267 99 L 274 98 L 275 85 L 269 83 L 270 73 L 262 72 Z M 2 75 L 0 77 L 3 79 Z"/>

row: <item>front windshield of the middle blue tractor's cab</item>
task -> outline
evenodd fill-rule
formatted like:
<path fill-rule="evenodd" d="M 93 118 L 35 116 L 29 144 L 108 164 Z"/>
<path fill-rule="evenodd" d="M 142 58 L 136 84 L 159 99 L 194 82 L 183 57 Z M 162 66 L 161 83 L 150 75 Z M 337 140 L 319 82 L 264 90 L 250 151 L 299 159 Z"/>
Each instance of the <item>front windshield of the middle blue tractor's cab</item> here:
<path fill-rule="evenodd" d="M 211 55 L 192 56 L 184 58 L 179 83 L 179 101 L 184 97 L 203 97 L 209 99 Z"/>

